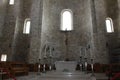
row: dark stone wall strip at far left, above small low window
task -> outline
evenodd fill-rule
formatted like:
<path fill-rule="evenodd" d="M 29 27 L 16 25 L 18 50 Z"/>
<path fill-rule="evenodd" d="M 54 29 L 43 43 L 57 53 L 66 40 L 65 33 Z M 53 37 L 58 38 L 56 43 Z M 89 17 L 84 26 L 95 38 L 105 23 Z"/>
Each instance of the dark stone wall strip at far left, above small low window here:
<path fill-rule="evenodd" d="M 3 1 L 3 0 L 1 0 Z M 14 26 L 15 26 L 15 18 L 14 18 L 14 8 L 13 6 L 9 5 L 9 1 L 5 2 L 3 1 L 3 7 L 1 9 L 4 9 L 2 12 L 3 19 L 4 20 L 2 25 L 2 37 L 1 37 L 1 51 L 0 54 L 7 54 L 10 56 L 12 54 L 12 39 L 14 36 Z M 8 60 L 10 60 L 10 57 L 8 57 Z"/>

